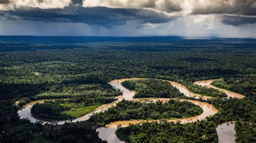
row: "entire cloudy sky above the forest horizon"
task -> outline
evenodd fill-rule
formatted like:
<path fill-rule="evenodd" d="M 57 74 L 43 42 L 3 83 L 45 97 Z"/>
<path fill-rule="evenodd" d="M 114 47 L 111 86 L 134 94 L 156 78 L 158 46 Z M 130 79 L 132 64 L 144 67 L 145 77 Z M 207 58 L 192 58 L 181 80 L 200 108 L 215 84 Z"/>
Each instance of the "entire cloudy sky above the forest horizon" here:
<path fill-rule="evenodd" d="M 256 0 L 0 0 L 0 35 L 256 38 Z"/>

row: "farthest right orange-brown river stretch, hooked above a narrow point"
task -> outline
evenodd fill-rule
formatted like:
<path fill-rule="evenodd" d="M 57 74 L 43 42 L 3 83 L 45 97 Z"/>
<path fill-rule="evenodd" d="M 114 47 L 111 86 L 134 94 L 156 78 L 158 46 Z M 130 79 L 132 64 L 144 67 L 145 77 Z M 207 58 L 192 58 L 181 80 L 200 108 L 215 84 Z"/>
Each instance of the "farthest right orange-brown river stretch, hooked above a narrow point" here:
<path fill-rule="evenodd" d="M 227 95 L 227 98 L 229 98 L 229 97 L 244 98 L 245 97 L 244 95 L 241 95 L 241 94 L 238 94 L 238 93 L 235 93 L 235 92 L 232 92 L 232 91 L 228 91 L 228 90 L 225 90 L 225 89 L 220 89 L 220 88 L 214 87 L 213 85 L 211 85 L 211 83 L 213 81 L 214 80 L 196 81 L 196 82 L 194 82 L 194 84 L 198 84 L 198 85 L 202 85 L 203 87 L 206 86 L 207 88 L 214 88 L 214 89 L 218 89 L 220 91 L 223 91 Z"/>

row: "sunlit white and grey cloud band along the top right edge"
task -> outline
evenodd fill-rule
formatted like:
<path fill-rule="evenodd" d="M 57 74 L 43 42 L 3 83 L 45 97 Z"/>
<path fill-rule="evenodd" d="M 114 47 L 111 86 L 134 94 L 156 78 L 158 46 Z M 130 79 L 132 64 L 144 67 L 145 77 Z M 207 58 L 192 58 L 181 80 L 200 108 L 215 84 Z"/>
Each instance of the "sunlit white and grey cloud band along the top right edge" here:
<path fill-rule="evenodd" d="M 256 16 L 254 0 L 84 0 L 83 6 L 107 8 L 152 8 L 163 12 L 182 12 L 183 14 L 235 14 Z"/>

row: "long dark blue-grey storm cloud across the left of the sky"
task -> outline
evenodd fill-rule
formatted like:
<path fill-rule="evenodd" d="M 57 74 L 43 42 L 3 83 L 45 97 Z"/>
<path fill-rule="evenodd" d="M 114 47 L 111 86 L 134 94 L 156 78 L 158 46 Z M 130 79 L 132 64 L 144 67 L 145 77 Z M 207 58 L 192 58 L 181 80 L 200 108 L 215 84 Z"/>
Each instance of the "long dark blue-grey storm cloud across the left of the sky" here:
<path fill-rule="evenodd" d="M 77 1 L 76 1 L 77 2 Z M 15 18 L 30 21 L 86 23 L 89 25 L 112 26 L 125 24 L 127 20 L 142 20 L 144 23 L 166 23 L 174 19 L 163 13 L 146 9 L 110 9 L 103 7 L 83 8 L 70 5 L 64 9 L 39 9 L 23 7 L 12 11 L 2 11 L 11 20 Z"/>

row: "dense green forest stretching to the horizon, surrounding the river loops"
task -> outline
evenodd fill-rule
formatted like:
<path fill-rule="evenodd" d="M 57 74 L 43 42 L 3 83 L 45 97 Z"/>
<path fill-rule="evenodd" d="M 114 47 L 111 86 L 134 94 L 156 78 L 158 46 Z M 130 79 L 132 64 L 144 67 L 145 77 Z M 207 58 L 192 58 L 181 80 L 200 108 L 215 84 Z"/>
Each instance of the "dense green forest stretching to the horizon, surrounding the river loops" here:
<path fill-rule="evenodd" d="M 93 128 L 95 124 L 91 121 L 41 125 L 20 119 L 17 115 L 18 108 L 30 101 L 60 99 L 56 103 L 48 104 L 82 104 L 83 106 L 105 104 L 112 102 L 112 97 L 121 95 L 121 92 L 112 88 L 108 82 L 130 77 L 176 81 L 186 85 L 193 92 L 207 94 L 216 90 L 199 86 L 190 88 L 190 86 L 197 80 L 223 77 L 223 80 L 218 81 L 221 84 L 213 83 L 213 85 L 234 90 L 244 94 L 246 98 L 222 99 L 218 97 L 223 95 L 214 93 L 209 96 L 217 98 L 207 102 L 213 104 L 219 112 L 205 121 L 184 125 L 145 123 L 142 126 L 132 125 L 129 130 L 126 130 L 126 127 L 119 130 L 125 132 L 126 136 L 128 134 L 131 141 L 162 138 L 186 141 L 187 138 L 193 141 L 217 142 L 215 127 L 220 123 L 231 120 L 256 123 L 255 47 L 255 40 L 250 39 L 178 39 L 165 42 L 76 44 L 63 44 L 58 41 L 54 43 L 1 41 L 0 141 L 70 142 L 73 139 L 81 142 L 101 141 Z M 167 87 L 166 83 L 156 84 L 157 87 L 166 89 L 166 97 L 180 95 L 170 85 Z M 170 96 L 170 92 L 174 95 Z M 142 94 L 142 96 L 148 95 Z M 158 96 L 157 93 L 155 95 Z M 68 99 L 67 103 L 64 99 Z M 254 131 L 255 127 L 250 125 L 240 128 L 240 126 L 236 125 L 238 141 L 255 142 L 252 136 L 245 134 Z M 177 132 L 173 128 L 177 129 Z M 137 129 L 134 134 L 130 132 Z"/>

